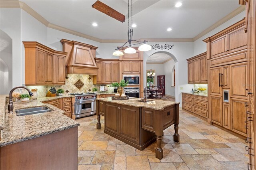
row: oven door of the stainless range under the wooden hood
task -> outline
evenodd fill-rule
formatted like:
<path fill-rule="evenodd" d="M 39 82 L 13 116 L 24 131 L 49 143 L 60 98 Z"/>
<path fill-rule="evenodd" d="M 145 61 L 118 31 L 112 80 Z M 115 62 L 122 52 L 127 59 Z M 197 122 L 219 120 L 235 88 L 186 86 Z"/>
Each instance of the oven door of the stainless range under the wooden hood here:
<path fill-rule="evenodd" d="M 96 111 L 96 100 L 84 100 L 75 102 L 75 115 Z"/>

